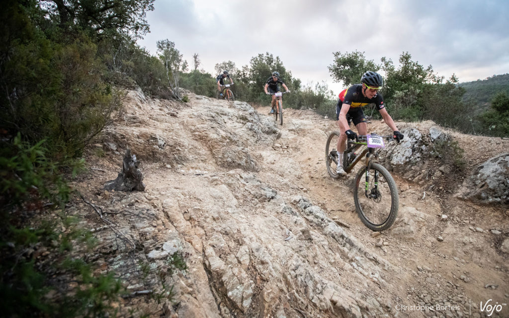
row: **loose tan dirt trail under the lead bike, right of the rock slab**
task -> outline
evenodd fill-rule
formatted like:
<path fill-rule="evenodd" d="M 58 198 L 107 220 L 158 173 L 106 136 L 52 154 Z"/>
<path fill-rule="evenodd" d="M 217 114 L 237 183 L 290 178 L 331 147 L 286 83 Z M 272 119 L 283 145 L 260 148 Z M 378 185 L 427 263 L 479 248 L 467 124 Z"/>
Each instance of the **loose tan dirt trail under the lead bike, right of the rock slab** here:
<path fill-rule="evenodd" d="M 268 107 L 258 108 L 262 114 L 268 110 Z M 501 240 L 509 236 L 509 210 L 477 206 L 453 197 L 458 184 L 450 184 L 453 189 L 430 191 L 429 184 L 416 185 L 396 176 L 400 190 L 400 217 L 396 225 L 404 221 L 401 211 L 405 213 L 405 208 L 416 211 L 423 221 L 414 225 L 414 233 L 398 235 L 389 229 L 374 238 L 373 232 L 361 223 L 355 212 L 349 186 L 355 174 L 340 180 L 327 175 L 324 145 L 326 133 L 337 130 L 335 122 L 310 111 L 285 111 L 286 123 L 278 143 L 288 145 L 292 154 L 298 154 L 292 157 L 303 170 L 301 187 L 307 190 L 306 194 L 331 218 L 349 224 L 349 230 L 363 244 L 411 273 L 411 279 L 401 281 L 399 290 L 385 292 L 399 295 L 401 305 L 461 305 L 470 309 L 470 313 L 475 312 L 472 316 L 478 314 L 480 302 L 486 304 L 493 299 L 503 305 L 509 301 L 508 255 L 498 249 Z M 423 122 L 415 127 L 426 129 L 432 125 L 432 122 Z M 368 128 L 378 133 L 390 133 L 387 126 L 378 121 L 373 121 Z M 315 130 L 323 131 L 323 134 Z M 500 138 L 451 134 L 465 150 L 467 170 L 509 147 L 509 142 Z M 457 180 L 462 181 L 461 178 Z M 446 221 L 441 221 L 442 215 L 447 216 Z M 491 229 L 501 230 L 504 234 L 495 235 Z M 437 240 L 439 236 L 443 241 Z M 381 248 L 376 246 L 380 239 L 383 240 Z M 505 314 L 500 316 L 509 316 L 509 308 L 503 307 Z"/>

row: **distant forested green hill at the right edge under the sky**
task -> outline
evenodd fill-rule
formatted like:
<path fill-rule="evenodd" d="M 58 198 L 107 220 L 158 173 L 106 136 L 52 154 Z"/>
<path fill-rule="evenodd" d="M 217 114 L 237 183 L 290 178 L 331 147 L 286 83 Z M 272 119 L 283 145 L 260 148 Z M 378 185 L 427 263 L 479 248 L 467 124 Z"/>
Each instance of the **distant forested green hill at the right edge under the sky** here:
<path fill-rule="evenodd" d="M 474 106 L 478 112 L 489 108 L 496 94 L 505 92 L 509 95 L 509 74 L 494 75 L 483 80 L 463 82 L 459 84 L 465 89 L 463 102 Z"/>

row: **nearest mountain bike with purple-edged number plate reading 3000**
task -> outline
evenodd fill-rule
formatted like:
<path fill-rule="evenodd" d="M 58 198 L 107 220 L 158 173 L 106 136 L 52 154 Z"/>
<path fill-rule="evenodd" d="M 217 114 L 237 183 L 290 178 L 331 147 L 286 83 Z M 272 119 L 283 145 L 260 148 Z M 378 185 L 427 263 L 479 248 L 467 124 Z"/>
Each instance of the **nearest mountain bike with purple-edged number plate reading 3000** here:
<path fill-rule="evenodd" d="M 340 132 L 333 131 L 327 138 L 325 156 L 329 176 L 338 179 L 337 140 Z M 343 153 L 343 167 L 348 173 L 365 156 L 365 164 L 355 177 L 353 198 L 355 210 L 364 225 L 374 231 L 389 228 L 398 216 L 399 194 L 394 179 L 389 171 L 379 163 L 378 152 L 385 147 L 383 140 L 395 140 L 392 136 L 359 135 L 357 139 L 348 139 Z M 364 182 L 361 182 L 364 180 Z"/>

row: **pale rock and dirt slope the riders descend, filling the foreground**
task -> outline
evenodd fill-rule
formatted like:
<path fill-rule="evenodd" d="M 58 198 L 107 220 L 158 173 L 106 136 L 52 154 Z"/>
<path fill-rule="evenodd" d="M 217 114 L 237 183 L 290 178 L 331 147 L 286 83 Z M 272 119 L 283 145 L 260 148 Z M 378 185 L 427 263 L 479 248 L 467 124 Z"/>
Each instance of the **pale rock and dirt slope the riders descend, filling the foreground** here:
<path fill-rule="evenodd" d="M 327 175 L 335 122 L 285 109 L 281 127 L 268 107 L 189 97 L 182 104 L 131 91 L 124 118 L 88 152 L 90 174 L 73 184 L 122 234 L 81 201 L 70 207 L 100 242 L 81 256 L 115 271 L 132 293 L 117 304 L 120 315 L 480 317 L 489 299 L 504 304 L 492 317 L 509 315 L 509 210 L 456 198 L 464 176 L 431 186 L 431 178 L 395 175 L 399 217 L 373 233 L 355 213 L 353 174 Z M 450 133 L 468 169 L 509 147 Z M 142 163 L 145 191 L 105 191 L 127 148 Z M 172 255 L 187 270 L 175 269 Z"/>

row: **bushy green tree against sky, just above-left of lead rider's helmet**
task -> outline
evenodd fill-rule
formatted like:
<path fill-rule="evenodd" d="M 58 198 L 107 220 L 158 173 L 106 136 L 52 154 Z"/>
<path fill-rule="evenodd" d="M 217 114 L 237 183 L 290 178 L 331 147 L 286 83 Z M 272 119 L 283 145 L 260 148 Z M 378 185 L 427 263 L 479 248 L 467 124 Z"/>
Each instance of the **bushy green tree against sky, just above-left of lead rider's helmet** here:
<path fill-rule="evenodd" d="M 328 66 L 329 73 L 335 82 L 343 82 L 345 86 L 360 82 L 366 71 L 378 72 L 380 65 L 367 61 L 364 52 L 334 52 L 334 61 Z"/>

